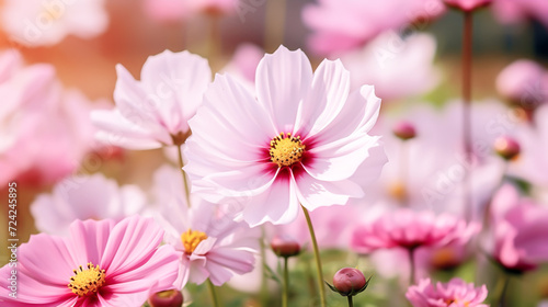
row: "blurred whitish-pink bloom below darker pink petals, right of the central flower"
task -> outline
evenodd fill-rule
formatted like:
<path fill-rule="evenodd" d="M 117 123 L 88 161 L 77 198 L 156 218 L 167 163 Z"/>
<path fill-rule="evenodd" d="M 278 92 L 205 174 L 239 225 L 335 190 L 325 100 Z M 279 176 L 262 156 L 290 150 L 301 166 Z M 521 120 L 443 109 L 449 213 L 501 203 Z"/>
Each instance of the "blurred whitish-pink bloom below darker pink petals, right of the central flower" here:
<path fill-rule="evenodd" d="M 365 48 L 344 54 L 341 60 L 351 72 L 351 88 L 375 84 L 375 93 L 386 102 L 425 93 L 438 83 L 439 71 L 433 66 L 435 52 L 431 35 L 401 38 L 389 31 Z"/>

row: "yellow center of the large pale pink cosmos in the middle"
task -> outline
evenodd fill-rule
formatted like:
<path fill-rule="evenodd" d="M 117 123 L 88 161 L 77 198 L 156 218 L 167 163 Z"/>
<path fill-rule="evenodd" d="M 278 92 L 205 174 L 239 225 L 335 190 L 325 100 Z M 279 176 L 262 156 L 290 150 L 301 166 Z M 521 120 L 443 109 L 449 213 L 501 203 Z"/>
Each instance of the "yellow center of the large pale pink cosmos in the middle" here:
<path fill-rule="evenodd" d="M 281 133 L 271 140 L 271 161 L 279 168 L 290 167 L 302 159 L 306 146 L 300 140 L 300 136 L 294 137 L 292 134 Z"/>

